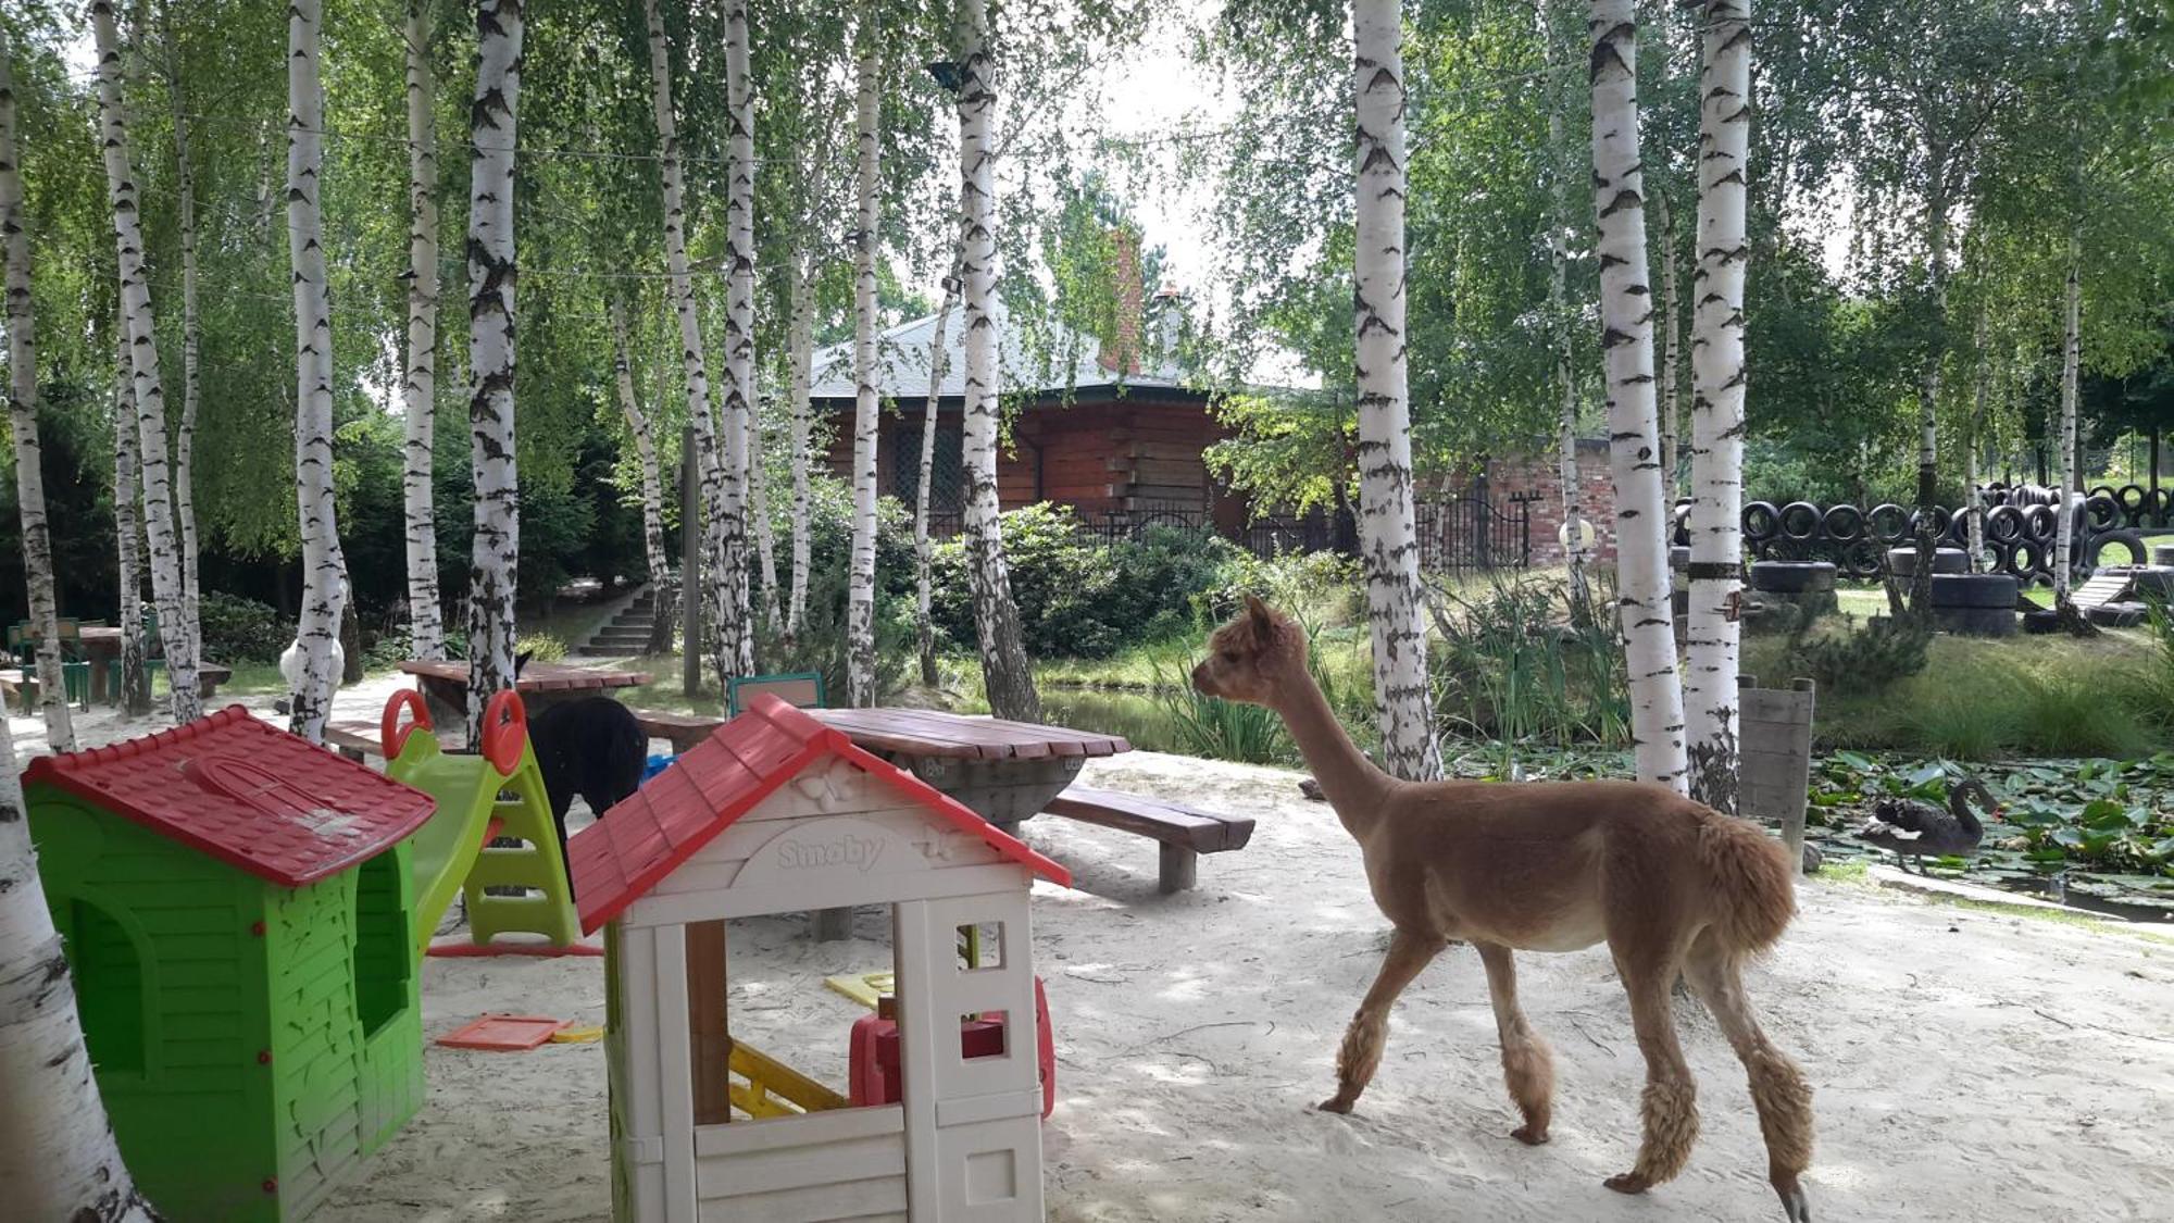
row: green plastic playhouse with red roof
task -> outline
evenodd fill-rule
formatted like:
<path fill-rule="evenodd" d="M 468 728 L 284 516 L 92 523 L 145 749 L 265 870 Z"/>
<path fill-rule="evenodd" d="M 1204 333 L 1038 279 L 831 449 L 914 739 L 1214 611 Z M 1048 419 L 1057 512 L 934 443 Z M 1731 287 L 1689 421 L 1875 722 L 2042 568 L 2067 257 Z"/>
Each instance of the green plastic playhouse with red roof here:
<path fill-rule="evenodd" d="M 167 1219 L 300 1219 L 422 1105 L 433 801 L 254 720 L 30 762 L 98 1088 Z"/>

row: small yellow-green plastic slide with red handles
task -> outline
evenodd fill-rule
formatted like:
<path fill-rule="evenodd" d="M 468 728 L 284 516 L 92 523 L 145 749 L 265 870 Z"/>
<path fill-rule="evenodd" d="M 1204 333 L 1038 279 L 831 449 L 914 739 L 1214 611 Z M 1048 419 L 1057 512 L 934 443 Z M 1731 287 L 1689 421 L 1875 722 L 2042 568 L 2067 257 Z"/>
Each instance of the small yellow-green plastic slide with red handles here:
<path fill-rule="evenodd" d="M 413 720 L 400 720 L 400 712 Z M 402 688 L 385 703 L 378 727 L 385 773 L 437 799 L 437 814 L 409 840 L 415 873 L 415 931 L 420 953 L 489 955 L 524 951 L 493 944 L 500 934 L 539 934 L 554 951 L 580 944 L 574 888 L 567 884 L 559 831 L 550 818 L 544 770 L 528 744 L 528 712 L 513 692 L 498 692 L 483 709 L 483 751 L 452 755 L 439 749 L 422 694 Z M 520 844 L 489 844 L 515 838 Z M 491 890 L 517 888 L 515 894 Z M 472 947 L 430 947 L 430 931 L 467 901 Z"/>

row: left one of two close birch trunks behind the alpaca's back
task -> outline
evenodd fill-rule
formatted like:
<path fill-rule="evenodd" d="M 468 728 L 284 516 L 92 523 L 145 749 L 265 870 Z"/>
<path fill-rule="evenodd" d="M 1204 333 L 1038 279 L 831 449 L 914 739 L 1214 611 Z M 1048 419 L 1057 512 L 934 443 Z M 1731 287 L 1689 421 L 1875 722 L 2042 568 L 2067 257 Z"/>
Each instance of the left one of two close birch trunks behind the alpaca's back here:
<path fill-rule="evenodd" d="M 1667 588 L 1652 376 L 1652 289 L 1637 141 L 1637 17 L 1630 0 L 1591 0 L 1594 215 L 1600 255 L 1600 353 L 1615 477 L 1615 594 L 1630 670 L 1630 740 L 1639 781 L 1685 790 L 1683 677 Z M 1361 242 L 1361 250 L 1365 242 Z"/>

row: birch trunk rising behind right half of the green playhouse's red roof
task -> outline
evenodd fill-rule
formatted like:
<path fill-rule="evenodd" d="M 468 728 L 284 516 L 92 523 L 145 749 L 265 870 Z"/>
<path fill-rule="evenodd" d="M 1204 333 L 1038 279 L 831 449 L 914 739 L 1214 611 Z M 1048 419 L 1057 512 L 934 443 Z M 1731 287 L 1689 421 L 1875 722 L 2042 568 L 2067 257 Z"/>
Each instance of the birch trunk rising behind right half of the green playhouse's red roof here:
<path fill-rule="evenodd" d="M 322 4 L 287 7 L 287 248 L 293 259 L 293 492 L 302 522 L 302 685 L 289 727 L 324 740 L 333 712 L 333 642 L 348 603 L 333 505 L 333 294 L 324 265 Z"/>

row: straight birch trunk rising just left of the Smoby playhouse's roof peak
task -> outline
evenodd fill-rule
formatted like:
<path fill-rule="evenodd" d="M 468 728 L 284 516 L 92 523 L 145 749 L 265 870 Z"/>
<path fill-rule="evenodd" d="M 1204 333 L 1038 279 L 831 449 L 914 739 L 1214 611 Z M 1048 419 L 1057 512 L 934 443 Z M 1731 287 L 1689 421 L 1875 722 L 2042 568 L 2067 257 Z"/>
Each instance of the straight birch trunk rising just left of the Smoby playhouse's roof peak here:
<path fill-rule="evenodd" d="M 754 670 L 748 601 L 748 418 L 754 411 L 754 100 L 748 0 L 724 4 L 724 503 L 717 548 L 717 683 Z"/>

